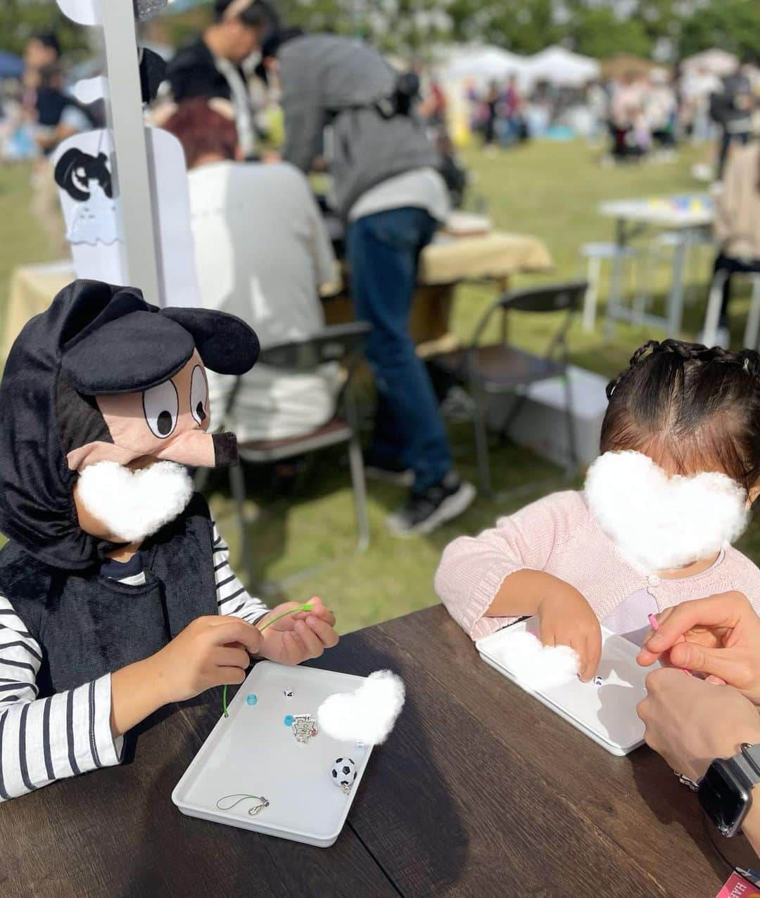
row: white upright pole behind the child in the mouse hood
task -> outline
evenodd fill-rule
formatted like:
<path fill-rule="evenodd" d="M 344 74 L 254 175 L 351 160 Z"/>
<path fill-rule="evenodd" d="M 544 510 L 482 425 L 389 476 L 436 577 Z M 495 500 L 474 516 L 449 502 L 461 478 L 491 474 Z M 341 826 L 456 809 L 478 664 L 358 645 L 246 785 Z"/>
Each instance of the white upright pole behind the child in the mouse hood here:
<path fill-rule="evenodd" d="M 157 248 L 155 190 L 146 147 L 140 92 L 137 29 L 132 0 L 102 0 L 103 42 L 108 66 L 110 127 L 116 150 L 129 286 L 148 302 L 163 305 Z"/>

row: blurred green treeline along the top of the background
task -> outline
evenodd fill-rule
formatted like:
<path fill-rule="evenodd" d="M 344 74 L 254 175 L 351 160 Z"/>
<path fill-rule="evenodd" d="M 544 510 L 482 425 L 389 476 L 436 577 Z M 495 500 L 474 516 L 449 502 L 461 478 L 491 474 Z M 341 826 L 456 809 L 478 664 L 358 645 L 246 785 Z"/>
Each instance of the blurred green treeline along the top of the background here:
<path fill-rule="evenodd" d="M 760 57 L 760 0 L 278 0 L 278 8 L 284 21 L 307 31 L 352 34 L 386 53 L 423 60 L 446 40 L 517 53 L 561 41 L 594 57 L 676 57 L 709 47 Z M 207 0 L 186 15 L 160 17 L 156 28 L 176 46 L 209 15 Z M 69 22 L 53 0 L 0 0 L 0 49 L 20 53 L 37 31 L 56 31 L 69 55 L 87 49 L 87 29 Z"/>

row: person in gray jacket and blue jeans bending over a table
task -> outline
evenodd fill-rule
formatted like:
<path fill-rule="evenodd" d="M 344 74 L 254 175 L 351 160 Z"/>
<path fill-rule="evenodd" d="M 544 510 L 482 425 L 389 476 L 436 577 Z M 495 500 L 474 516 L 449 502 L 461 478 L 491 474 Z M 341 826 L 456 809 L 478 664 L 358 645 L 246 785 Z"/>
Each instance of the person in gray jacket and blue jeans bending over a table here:
<path fill-rule="evenodd" d="M 367 44 L 331 34 L 273 34 L 262 48 L 278 72 L 283 157 L 303 172 L 324 158 L 332 205 L 347 223 L 351 295 L 372 330 L 367 358 L 378 408 L 367 471 L 411 483 L 393 533 L 429 533 L 474 497 L 452 468 L 429 374 L 409 331 L 420 252 L 448 212 L 439 159 L 413 111 L 416 84 Z"/>

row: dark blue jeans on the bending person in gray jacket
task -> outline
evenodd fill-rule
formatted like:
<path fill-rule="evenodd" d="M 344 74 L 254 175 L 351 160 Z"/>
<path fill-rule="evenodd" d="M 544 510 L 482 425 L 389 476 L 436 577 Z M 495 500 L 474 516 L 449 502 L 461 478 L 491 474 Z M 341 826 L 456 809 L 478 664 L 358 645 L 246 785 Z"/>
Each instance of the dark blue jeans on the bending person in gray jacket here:
<path fill-rule="evenodd" d="M 435 230 L 424 209 L 403 207 L 358 218 L 347 233 L 354 310 L 372 325 L 367 359 L 378 394 L 372 453 L 411 468 L 414 492 L 451 468 L 436 395 L 409 332 L 417 263 Z"/>

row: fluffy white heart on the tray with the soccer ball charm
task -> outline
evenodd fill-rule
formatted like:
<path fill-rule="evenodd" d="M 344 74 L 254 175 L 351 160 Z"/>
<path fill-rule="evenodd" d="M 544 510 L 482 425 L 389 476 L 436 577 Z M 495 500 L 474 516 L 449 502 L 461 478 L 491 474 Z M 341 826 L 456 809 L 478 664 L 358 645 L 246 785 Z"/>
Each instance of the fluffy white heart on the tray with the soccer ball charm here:
<path fill-rule="evenodd" d="M 340 742 L 379 745 L 390 735 L 404 702 L 401 677 L 376 671 L 354 692 L 337 692 L 319 706 L 320 728 Z"/>

